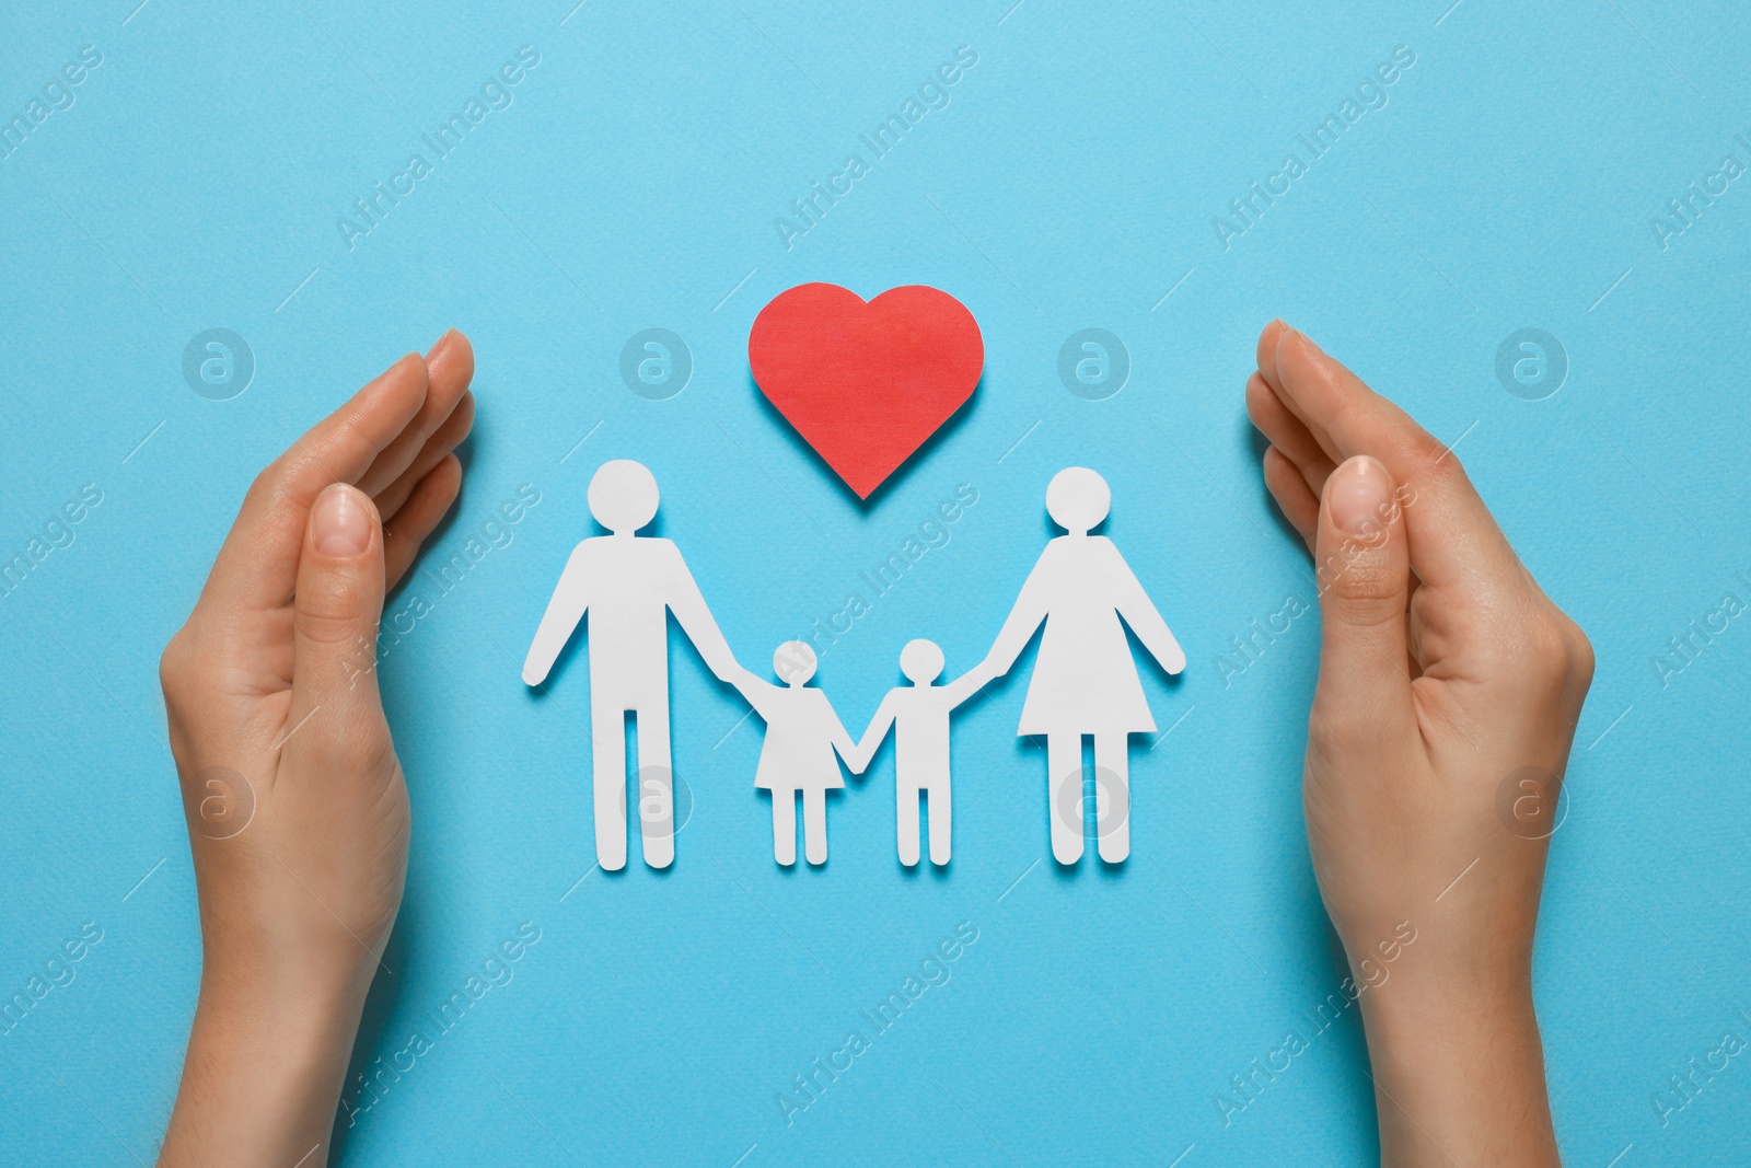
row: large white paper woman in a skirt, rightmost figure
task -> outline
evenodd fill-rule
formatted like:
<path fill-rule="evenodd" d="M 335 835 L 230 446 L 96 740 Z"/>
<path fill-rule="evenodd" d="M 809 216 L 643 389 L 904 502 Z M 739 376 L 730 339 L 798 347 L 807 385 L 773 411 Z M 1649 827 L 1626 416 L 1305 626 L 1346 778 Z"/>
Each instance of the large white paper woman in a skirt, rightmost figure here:
<path fill-rule="evenodd" d="M 1045 735 L 1052 855 L 1059 863 L 1082 858 L 1084 735 L 1094 737 L 1094 769 L 1103 788 L 1100 856 L 1117 863 L 1131 853 L 1129 735 L 1152 732 L 1156 720 L 1124 625 L 1163 669 L 1185 667 L 1185 653 L 1119 548 L 1089 534 L 1107 518 L 1110 503 L 1107 480 L 1091 469 L 1072 466 L 1052 476 L 1045 510 L 1070 534 L 1045 545 L 981 664 L 993 676 L 1009 672 L 1035 629 L 1045 623 L 1017 734 Z"/>

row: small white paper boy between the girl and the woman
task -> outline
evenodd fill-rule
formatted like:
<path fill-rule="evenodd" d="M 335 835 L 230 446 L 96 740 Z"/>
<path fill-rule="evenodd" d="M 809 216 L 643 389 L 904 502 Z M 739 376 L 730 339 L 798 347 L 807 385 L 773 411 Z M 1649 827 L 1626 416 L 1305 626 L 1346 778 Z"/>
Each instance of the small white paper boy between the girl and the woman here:
<path fill-rule="evenodd" d="M 979 692 L 991 672 L 977 667 L 949 685 L 932 685 L 942 672 L 942 650 L 933 641 L 907 641 L 900 650 L 900 672 L 912 685 L 888 690 L 876 716 L 858 741 L 856 758 L 846 758 L 858 774 L 868 767 L 876 748 L 893 727 L 895 830 L 900 863 L 918 863 L 918 802 L 930 799 L 930 862 L 949 862 L 949 714 Z"/>

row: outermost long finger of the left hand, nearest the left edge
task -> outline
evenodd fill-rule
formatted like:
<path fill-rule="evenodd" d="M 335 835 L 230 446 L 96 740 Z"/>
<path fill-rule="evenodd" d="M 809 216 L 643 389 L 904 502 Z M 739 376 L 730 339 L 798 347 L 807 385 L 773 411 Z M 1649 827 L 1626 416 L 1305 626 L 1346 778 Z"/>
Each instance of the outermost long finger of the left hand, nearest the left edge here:
<path fill-rule="evenodd" d="M 299 438 L 256 476 L 214 560 L 201 602 L 285 604 L 298 580 L 310 504 L 329 483 L 352 483 L 425 403 L 425 362 L 408 354 Z"/>

